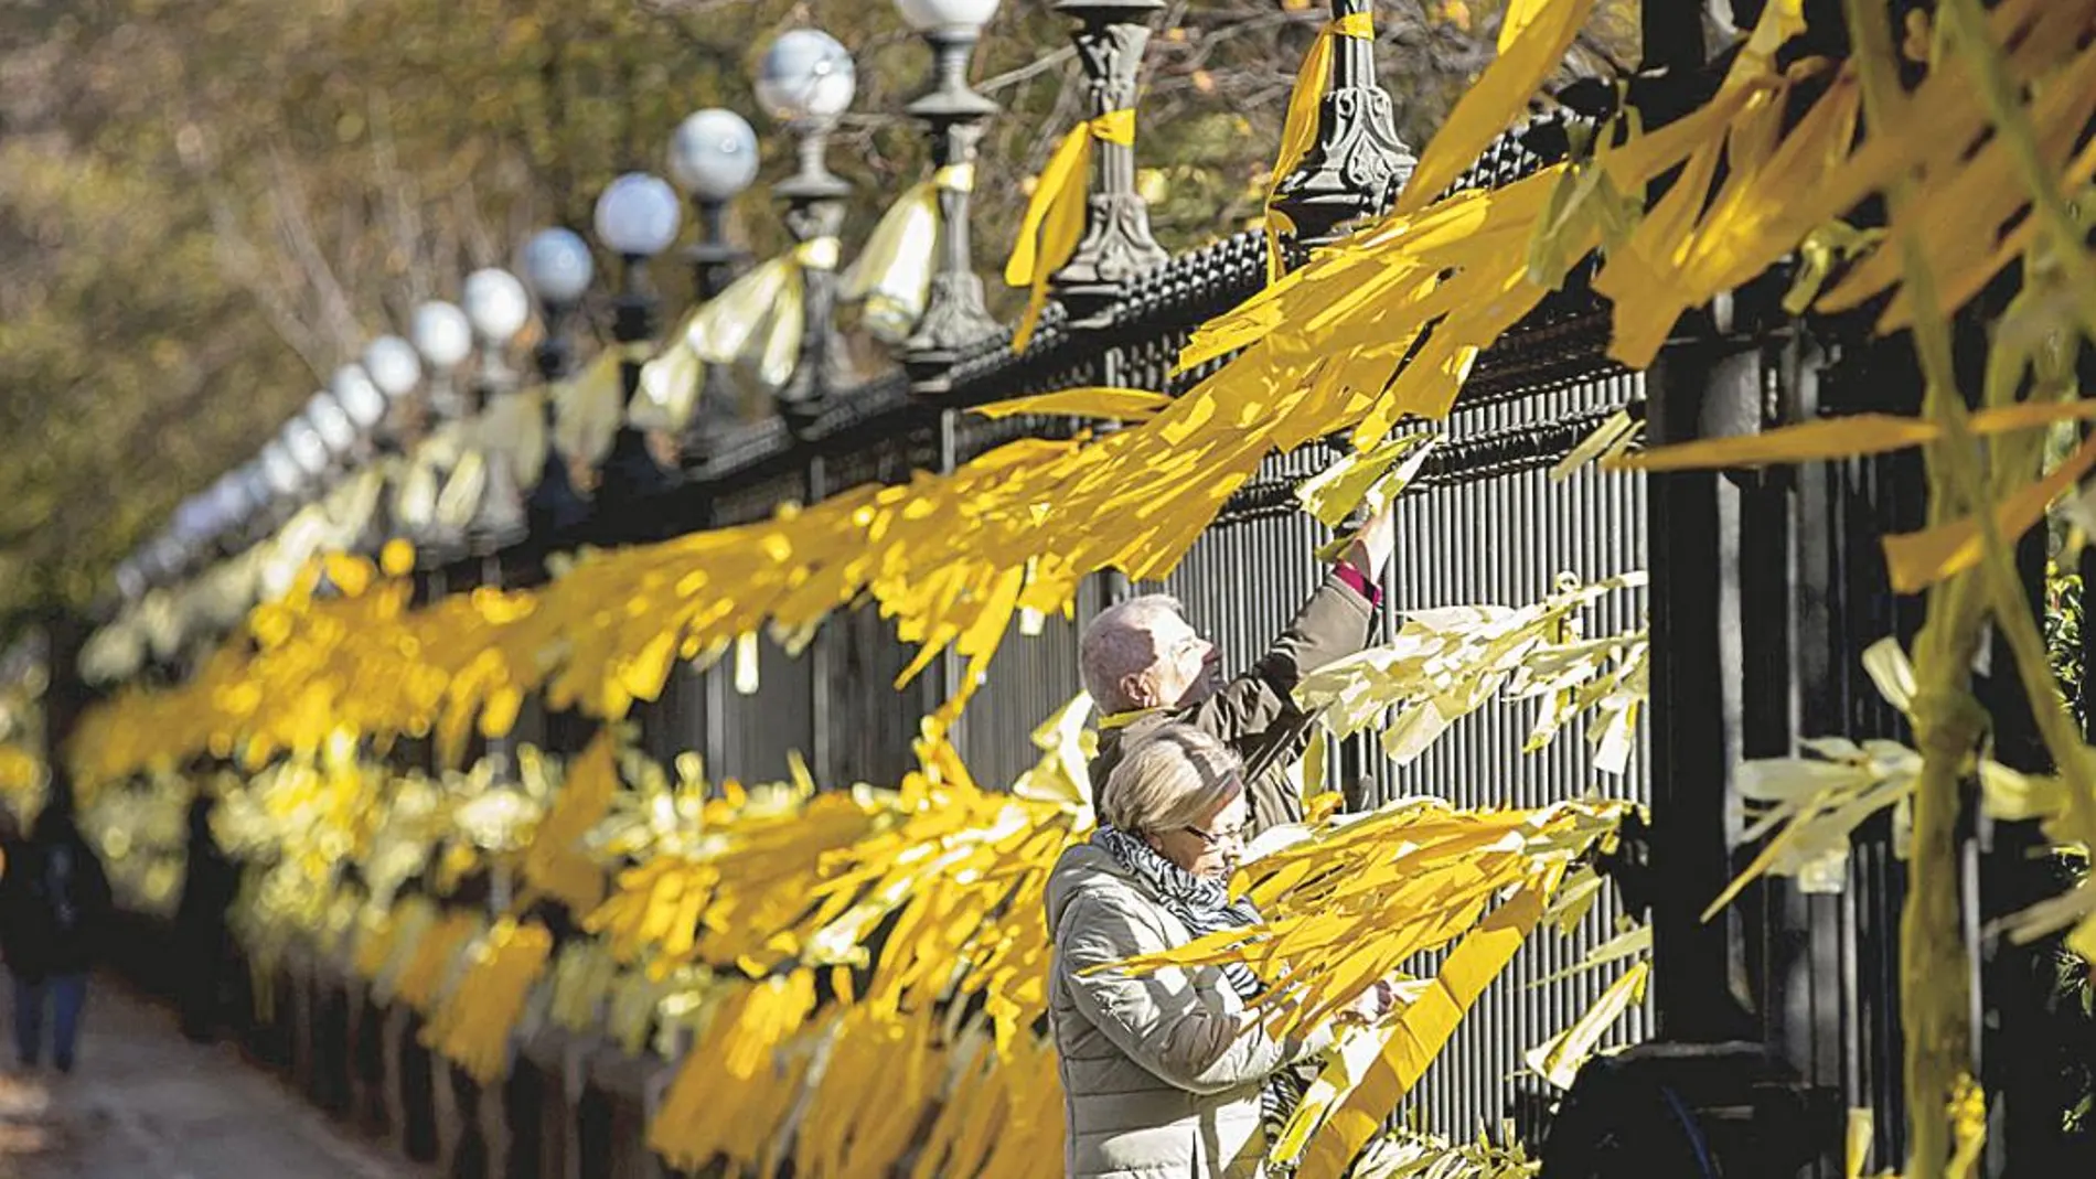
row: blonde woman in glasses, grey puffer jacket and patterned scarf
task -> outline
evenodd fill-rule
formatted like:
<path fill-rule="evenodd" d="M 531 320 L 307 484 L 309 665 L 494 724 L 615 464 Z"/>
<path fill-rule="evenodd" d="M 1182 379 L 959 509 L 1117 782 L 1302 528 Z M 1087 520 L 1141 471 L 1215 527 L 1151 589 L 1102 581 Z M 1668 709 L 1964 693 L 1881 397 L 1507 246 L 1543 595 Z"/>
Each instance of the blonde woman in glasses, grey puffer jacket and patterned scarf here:
<path fill-rule="evenodd" d="M 1323 1051 L 1329 1035 L 1268 1035 L 1245 1009 L 1262 984 L 1243 965 L 1088 974 L 1260 919 L 1224 890 L 1243 842 L 1243 766 L 1220 739 L 1163 725 L 1128 748 L 1098 817 L 1092 840 L 1063 852 L 1048 880 L 1065 1173 L 1256 1177 L 1262 1106 L 1283 1099 L 1274 1076 Z M 1354 1005 L 1360 1018 L 1381 1009 L 1379 991 Z"/>

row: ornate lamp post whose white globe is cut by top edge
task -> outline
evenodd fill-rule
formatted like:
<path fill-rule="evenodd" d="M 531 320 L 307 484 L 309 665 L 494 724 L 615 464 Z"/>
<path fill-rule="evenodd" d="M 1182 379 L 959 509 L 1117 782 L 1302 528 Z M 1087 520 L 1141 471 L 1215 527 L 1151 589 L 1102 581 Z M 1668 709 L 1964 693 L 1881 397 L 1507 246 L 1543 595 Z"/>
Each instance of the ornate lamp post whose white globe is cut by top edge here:
<path fill-rule="evenodd" d="M 968 86 L 968 63 L 998 0 L 895 0 L 903 21 L 924 36 L 933 52 L 933 88 L 908 111 L 931 132 L 931 161 L 939 184 L 939 253 L 924 297 L 924 318 L 903 341 L 903 369 L 918 394 L 952 387 L 962 350 L 998 331 L 983 308 L 983 279 L 968 243 L 968 193 L 983 128 L 998 105 Z"/>

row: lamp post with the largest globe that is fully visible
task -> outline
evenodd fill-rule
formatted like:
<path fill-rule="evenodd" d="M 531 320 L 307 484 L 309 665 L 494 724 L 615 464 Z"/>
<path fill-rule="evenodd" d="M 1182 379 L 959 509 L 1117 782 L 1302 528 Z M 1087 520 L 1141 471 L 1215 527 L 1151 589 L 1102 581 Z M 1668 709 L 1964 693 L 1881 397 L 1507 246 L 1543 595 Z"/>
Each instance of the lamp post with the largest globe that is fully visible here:
<path fill-rule="evenodd" d="M 836 232 L 851 184 L 830 174 L 824 153 L 838 115 L 851 107 L 857 73 L 836 38 L 794 29 L 771 42 L 757 65 L 757 103 L 794 134 L 799 170 L 773 191 L 786 201 L 786 230 L 813 258 L 801 268 L 803 331 L 792 377 L 776 394 L 786 429 L 805 438 L 832 387 L 836 346 Z M 828 245 L 824 245 L 828 243 Z M 832 258 L 822 258 L 828 251 Z M 828 262 L 828 264 L 824 264 Z"/>

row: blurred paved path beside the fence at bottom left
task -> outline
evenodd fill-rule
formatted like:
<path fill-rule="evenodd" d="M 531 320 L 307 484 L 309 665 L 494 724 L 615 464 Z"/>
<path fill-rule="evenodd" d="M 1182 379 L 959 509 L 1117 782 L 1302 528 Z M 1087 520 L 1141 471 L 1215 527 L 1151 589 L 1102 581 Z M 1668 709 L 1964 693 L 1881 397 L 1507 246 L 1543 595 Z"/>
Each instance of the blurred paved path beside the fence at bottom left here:
<path fill-rule="evenodd" d="M 4 980 L 0 980 L 4 982 Z M 0 986 L 0 1062 L 13 1016 Z M 0 1074 L 0 1179 L 421 1179 L 352 1137 L 231 1045 L 96 978 L 80 1068 Z"/>

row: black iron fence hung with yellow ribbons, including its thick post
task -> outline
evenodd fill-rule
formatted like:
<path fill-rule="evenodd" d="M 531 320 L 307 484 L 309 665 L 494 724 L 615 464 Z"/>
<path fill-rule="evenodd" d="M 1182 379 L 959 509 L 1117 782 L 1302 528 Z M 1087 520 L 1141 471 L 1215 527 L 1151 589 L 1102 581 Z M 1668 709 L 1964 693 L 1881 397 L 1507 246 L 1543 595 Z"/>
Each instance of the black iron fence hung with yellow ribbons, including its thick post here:
<path fill-rule="evenodd" d="M 1528 163 L 1518 140 L 1507 138 L 1480 176 L 1505 178 Z M 985 341 L 962 360 L 954 392 L 939 402 L 912 398 L 897 373 L 840 392 L 801 438 L 778 423 L 748 427 L 715 448 L 700 477 L 641 505 L 646 532 L 667 536 L 763 519 L 786 503 L 866 482 L 901 482 L 920 469 L 947 471 L 1012 438 L 1069 429 L 1067 421 L 981 419 L 966 413 L 975 404 L 1084 385 L 1174 392 L 1199 377 L 1172 375 L 1188 333 L 1262 281 L 1260 237 L 1237 235 L 1134 281 L 1102 325 L 1069 331 L 1050 306 L 1023 356 Z M 1752 299 L 1742 299 L 1744 306 Z M 1411 609 L 1522 605 L 1551 593 L 1562 576 L 1593 582 L 1650 568 L 1650 595 L 1616 593 L 1589 614 L 1593 635 L 1639 628 L 1650 614 L 1650 722 L 1639 729 L 1626 766 L 1599 773 L 1578 722 L 1547 750 L 1524 754 L 1532 714 L 1488 706 L 1411 764 L 1394 764 L 1369 737 L 1346 741 L 1325 785 L 1362 802 L 1419 794 L 1459 806 L 1536 806 L 1587 794 L 1650 802 L 1654 829 L 1641 844 L 1633 840 L 1633 859 L 1643 857 L 1650 871 L 1629 875 L 1626 900 L 1652 909 L 1656 991 L 1614 1039 L 1759 1045 L 1775 1064 L 1777 1085 L 1815 1114 L 1876 1110 L 1876 1158 L 1899 1158 L 1903 867 L 1893 823 L 1880 819 L 1859 833 L 1840 892 L 1805 892 L 1775 880 L 1750 888 L 1712 921 L 1702 921 L 1700 911 L 1752 854 L 1740 846 L 1742 817 L 1731 787 L 1740 758 L 1788 754 L 1796 739 L 1813 735 L 1901 733 L 1897 712 L 1878 702 L 1859 655 L 1878 637 L 1912 637 L 1918 622 L 1918 603 L 1891 595 L 1876 555 L 1882 534 L 1920 519 L 1914 463 L 1652 480 L 1591 467 L 1557 477 L 1551 467 L 1622 408 L 1647 413 L 1656 438 L 1677 440 L 1901 408 L 1882 402 L 1912 396 L 1920 381 L 1886 360 L 1895 350 L 1849 341 L 1842 352 L 1780 316 L 1742 316 L 1723 331 L 1710 316 L 1691 316 L 1650 375 L 1612 364 L 1606 341 L 1608 310 L 1574 283 L 1480 356 L 1455 413 L 1440 425 L 1442 444 L 1400 498 L 1383 635 Z M 1197 626 L 1239 662 L 1253 658 L 1318 576 L 1312 549 L 1323 540 L 1320 528 L 1295 511 L 1289 492 L 1337 454 L 1335 444 L 1314 442 L 1270 457 L 1161 586 L 1094 576 L 1079 586 L 1071 618 L 1044 618 L 1008 635 L 956 729 L 977 779 L 998 785 L 1035 760 L 1029 731 L 1077 691 L 1077 632 L 1119 597 L 1174 593 Z M 493 561 L 444 570 L 425 588 L 530 584 L 545 576 L 545 553 L 593 538 L 604 536 L 539 536 Z M 782 639 L 805 645 L 788 651 Z M 706 670 L 681 668 L 658 702 L 637 710 L 641 739 L 658 760 L 700 754 L 715 779 L 780 779 L 799 756 L 824 785 L 895 781 L 912 764 L 920 718 L 954 695 L 962 674 L 947 655 L 897 691 L 893 679 L 910 658 L 893 626 L 859 603 L 813 635 L 761 639 L 748 660 L 729 653 Z M 516 739 L 576 752 L 589 731 L 574 716 L 549 716 L 530 704 Z M 2000 911 L 2002 896 L 2018 892 L 2029 873 L 2012 863 L 2016 854 L 2014 840 L 1977 833 L 1968 871 L 1974 911 Z M 1522 1053 L 1568 1026 L 1612 976 L 1587 972 L 1538 982 L 1618 932 L 1622 905 L 1610 890 L 1570 936 L 1538 934 L 1461 1024 L 1409 1114 L 1455 1137 L 1497 1129 L 1503 1118 L 1524 1135 L 1538 1133 L 1551 1093 L 1524 1074 Z M 1974 949 L 1983 949 L 1977 930 Z M 1985 978 L 1993 980 L 2002 959 L 1991 942 L 1985 949 L 1974 959 L 1987 963 Z M 275 986 L 314 993 L 291 1011 L 363 1011 L 358 1020 L 304 1016 L 298 1028 L 281 1032 L 291 1041 L 354 1041 L 308 1047 L 308 1060 L 331 1062 L 327 1068 L 352 1074 L 367 1089 L 402 1085 L 371 1078 L 375 1058 L 365 1041 L 398 1041 L 402 1030 L 367 1009 L 354 982 L 308 978 Z M 1974 986 L 1974 995 L 1991 1062 L 2014 1060 L 2018 1045 L 2029 1047 L 2029 1037 L 2042 1035 L 2027 1020 L 2004 1016 L 2010 995 L 2000 986 Z M 587 1066 L 574 1064 L 574 1051 L 581 1049 L 541 1045 L 518 1055 L 505 1087 L 505 1104 L 514 1106 L 509 1173 L 562 1173 L 534 1171 L 526 1156 L 560 1156 L 566 1166 L 589 1158 L 604 1166 L 587 1173 L 643 1173 L 637 1127 L 646 1085 L 606 1064 L 602 1049 L 585 1051 Z M 417 1114 L 415 1127 L 442 1122 L 436 1093 L 451 1072 L 425 1055 L 413 1058 L 425 1083 L 392 1097 L 396 1106 L 430 1104 L 434 1112 Z M 2012 1087 L 2008 1093 L 2014 1099 Z M 2037 1106 L 2023 1106 L 2031 1108 Z M 394 1118 L 400 1116 L 396 1110 Z M 543 1133 L 518 1137 L 520 1118 Z M 1813 1122 L 1826 1125 L 1826 1118 Z M 1838 1173 L 1836 1143 L 1834 1135 L 1819 1135 L 1807 1148 L 1817 1154 L 1821 1175 Z M 610 1158 L 618 1162 L 604 1162 Z"/>

